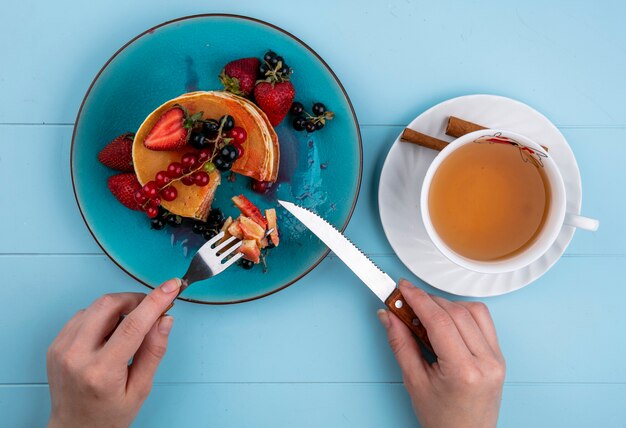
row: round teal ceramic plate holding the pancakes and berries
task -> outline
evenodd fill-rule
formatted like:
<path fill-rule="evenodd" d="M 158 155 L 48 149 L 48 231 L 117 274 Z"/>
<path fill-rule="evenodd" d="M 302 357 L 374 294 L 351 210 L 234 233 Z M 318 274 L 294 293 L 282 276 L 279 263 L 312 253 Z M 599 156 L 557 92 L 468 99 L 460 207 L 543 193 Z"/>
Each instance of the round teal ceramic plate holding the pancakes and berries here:
<path fill-rule="evenodd" d="M 154 231 L 147 217 L 119 204 L 107 178 L 115 171 L 97 160 L 116 135 L 136 131 L 163 102 L 184 92 L 221 89 L 224 64 L 262 57 L 272 49 L 293 68 L 296 99 L 321 101 L 335 112 L 323 130 L 307 135 L 288 120 L 276 129 L 281 147 L 280 185 L 270 196 L 255 194 L 247 177 L 223 177 L 214 207 L 238 215 L 230 198 L 243 193 L 259 208 L 285 199 L 313 209 L 343 230 L 359 193 L 362 148 L 354 110 L 328 65 L 311 48 L 280 28 L 233 15 L 198 15 L 166 22 L 131 40 L 105 64 L 87 91 L 72 140 L 74 193 L 87 227 L 106 254 L 129 275 L 154 287 L 182 276 L 204 242 L 188 229 Z M 282 208 L 280 246 L 269 252 L 267 271 L 234 266 L 196 283 L 181 295 L 199 303 L 236 303 L 281 290 L 313 269 L 327 248 Z"/>

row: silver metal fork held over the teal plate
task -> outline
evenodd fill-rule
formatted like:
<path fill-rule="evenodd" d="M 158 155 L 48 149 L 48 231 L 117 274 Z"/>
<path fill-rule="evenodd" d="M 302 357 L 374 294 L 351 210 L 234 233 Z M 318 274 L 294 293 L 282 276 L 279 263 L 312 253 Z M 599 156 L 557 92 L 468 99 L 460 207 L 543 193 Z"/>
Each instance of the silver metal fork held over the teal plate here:
<path fill-rule="evenodd" d="M 267 238 L 273 231 L 273 228 L 266 231 L 265 238 Z M 227 259 L 229 255 L 233 254 L 239 247 L 241 247 L 243 241 L 241 239 L 237 239 L 235 236 L 231 236 L 224 242 L 218 244 L 223 237 L 224 232 L 218 233 L 213 238 L 209 239 L 206 244 L 200 247 L 198 252 L 193 256 L 193 259 L 191 259 L 191 263 L 189 264 L 189 269 L 187 269 L 187 273 L 185 273 L 185 275 L 181 278 L 180 290 L 178 291 L 179 295 L 194 282 L 214 277 L 215 275 L 228 269 L 228 267 L 243 257 L 242 253 L 237 253 Z M 174 303 L 172 302 L 172 305 L 167 308 L 165 312 L 167 312 L 173 305 Z"/>

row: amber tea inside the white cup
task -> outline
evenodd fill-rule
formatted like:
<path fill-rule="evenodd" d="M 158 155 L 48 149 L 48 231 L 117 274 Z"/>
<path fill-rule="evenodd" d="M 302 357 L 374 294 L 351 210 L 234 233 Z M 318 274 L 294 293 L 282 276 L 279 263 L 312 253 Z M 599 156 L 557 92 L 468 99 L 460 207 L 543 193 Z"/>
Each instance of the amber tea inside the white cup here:
<path fill-rule="evenodd" d="M 433 176 L 433 226 L 456 253 L 478 261 L 512 257 L 539 235 L 550 209 L 542 166 L 511 144 L 472 142 L 448 156 Z"/>

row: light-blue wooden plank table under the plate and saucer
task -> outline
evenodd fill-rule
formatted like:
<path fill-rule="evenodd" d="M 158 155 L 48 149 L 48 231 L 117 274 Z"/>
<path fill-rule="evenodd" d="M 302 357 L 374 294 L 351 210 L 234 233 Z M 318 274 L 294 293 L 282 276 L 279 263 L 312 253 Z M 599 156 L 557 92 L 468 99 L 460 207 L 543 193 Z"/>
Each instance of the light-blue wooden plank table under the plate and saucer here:
<path fill-rule="evenodd" d="M 103 293 L 145 291 L 104 256 L 74 202 L 70 139 L 91 80 L 149 27 L 228 12 L 294 33 L 342 80 L 364 147 L 347 234 L 396 278 L 419 282 L 382 233 L 376 192 L 406 123 L 447 98 L 493 93 L 557 124 L 581 169 L 583 211 L 601 227 L 577 232 L 534 284 L 485 300 L 508 363 L 500 422 L 626 426 L 626 7 L 503 3 L 3 1 L 0 425 L 45 424 L 45 352 L 76 310 Z M 262 300 L 180 302 L 136 426 L 415 426 L 380 306 L 332 255 Z"/>

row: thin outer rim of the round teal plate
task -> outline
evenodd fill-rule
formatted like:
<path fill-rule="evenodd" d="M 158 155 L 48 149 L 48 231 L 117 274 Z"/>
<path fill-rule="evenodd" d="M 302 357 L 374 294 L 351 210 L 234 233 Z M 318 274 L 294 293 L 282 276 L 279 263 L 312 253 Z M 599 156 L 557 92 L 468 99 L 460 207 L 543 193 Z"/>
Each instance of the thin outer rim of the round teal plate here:
<path fill-rule="evenodd" d="M 330 66 L 326 63 L 326 61 L 324 61 L 324 59 L 317 52 L 315 52 L 315 50 L 313 50 L 313 48 L 311 48 L 309 45 L 304 43 L 301 39 L 299 39 L 298 37 L 294 36 L 290 32 L 288 32 L 288 31 L 286 31 L 286 30 L 284 30 L 284 29 L 282 29 L 282 28 L 280 28 L 280 27 L 278 27 L 278 26 L 276 26 L 274 24 L 271 24 L 271 23 L 269 23 L 267 21 L 263 21 L 263 20 L 260 20 L 260 19 L 257 19 L 257 18 L 252 18 L 252 17 L 249 17 L 249 16 L 245 16 L 245 15 L 228 14 L 228 13 L 204 13 L 204 14 L 196 14 L 196 15 L 187 15 L 187 16 L 183 16 L 183 17 L 180 17 L 180 18 L 175 18 L 175 19 L 172 19 L 172 20 L 169 20 L 169 21 L 162 22 L 161 24 L 155 25 L 154 27 L 151 27 L 151 28 L 145 30 L 144 32 L 138 34 L 137 36 L 133 37 L 131 40 L 126 42 L 122 47 L 120 47 L 104 63 L 104 65 L 102 66 L 100 71 L 98 71 L 96 76 L 93 78 L 91 84 L 89 85 L 89 88 L 87 89 L 87 92 L 85 92 L 85 96 L 83 97 L 82 102 L 80 103 L 80 108 L 78 109 L 78 113 L 76 115 L 76 120 L 74 121 L 74 130 L 72 131 L 72 143 L 71 143 L 71 146 L 70 146 L 70 175 L 71 175 L 71 180 L 72 180 L 72 190 L 74 192 L 74 199 L 76 200 L 76 205 L 78 206 L 78 210 L 80 212 L 80 216 L 82 217 L 83 222 L 85 223 L 85 226 L 87 226 L 87 230 L 89 230 L 89 233 L 91 234 L 93 239 L 96 241 L 96 244 L 98 244 L 100 249 L 102 249 L 104 254 L 113 263 L 115 263 L 115 265 L 117 265 L 117 267 L 119 267 L 124 273 L 126 273 L 128 276 L 133 278 L 135 281 L 139 282 L 140 284 L 145 285 L 146 287 L 148 287 L 150 289 L 154 289 L 154 287 L 152 287 L 150 284 L 144 282 L 140 278 L 136 277 L 135 275 L 133 275 L 132 273 L 127 271 L 120 263 L 118 263 L 117 260 L 115 260 L 115 258 L 113 256 L 111 256 L 111 254 L 109 254 L 109 252 L 106 250 L 106 248 L 104 248 L 104 246 L 102 245 L 102 243 L 100 242 L 100 240 L 98 239 L 98 237 L 96 236 L 94 231 L 91 229 L 89 223 L 87 222 L 87 219 L 85 218 L 85 215 L 83 213 L 83 209 L 81 207 L 80 200 L 78 198 L 78 193 L 76 192 L 76 183 L 75 183 L 75 180 L 74 180 L 74 143 L 75 143 L 75 140 L 76 140 L 76 129 L 77 129 L 78 122 L 80 120 L 81 113 L 83 111 L 83 107 L 85 106 L 85 102 L 87 101 L 87 98 L 91 94 L 91 90 L 93 89 L 93 86 L 95 85 L 95 83 L 100 78 L 100 75 L 109 66 L 109 64 L 120 53 L 122 53 L 128 46 L 130 46 L 131 44 L 133 44 L 135 41 L 139 40 L 140 38 L 142 38 L 142 37 L 144 37 L 144 36 L 146 36 L 148 34 L 153 33 L 157 29 L 159 29 L 161 27 L 165 27 L 165 26 L 173 24 L 173 23 L 176 23 L 176 22 L 181 22 L 181 21 L 186 21 L 186 20 L 191 20 L 191 19 L 197 19 L 197 18 L 216 18 L 216 17 L 234 18 L 234 19 L 241 19 L 241 20 L 244 20 L 244 21 L 251 21 L 251 22 L 254 22 L 254 23 L 257 23 L 257 24 L 261 24 L 261 25 L 267 26 L 267 27 L 269 27 L 269 28 L 271 28 L 273 30 L 279 31 L 280 33 L 284 34 L 287 37 L 292 38 L 297 43 L 302 45 L 302 47 L 304 47 L 311 54 L 313 54 L 321 62 L 321 64 L 328 70 L 328 72 L 331 74 L 333 79 L 335 79 L 335 82 L 337 83 L 337 85 L 341 89 L 341 92 L 343 92 L 343 95 L 344 95 L 344 97 L 345 97 L 345 99 L 346 99 L 346 101 L 348 103 L 348 106 L 350 107 L 350 112 L 352 113 L 352 118 L 353 118 L 354 123 L 356 125 L 356 134 L 357 134 L 357 140 L 358 140 L 358 144 L 359 144 L 359 179 L 357 181 L 356 192 L 355 192 L 355 195 L 354 195 L 354 200 L 352 201 L 352 206 L 350 207 L 350 211 L 348 212 L 348 216 L 346 217 L 346 220 L 345 220 L 344 224 L 339 229 L 342 233 L 346 229 L 346 227 L 348 226 L 348 223 L 350 222 L 350 219 L 352 218 L 352 214 L 354 214 L 354 209 L 356 207 L 357 201 L 359 199 L 359 194 L 360 194 L 360 191 L 361 191 L 361 182 L 362 182 L 362 179 L 363 179 L 363 142 L 362 142 L 362 139 L 361 139 L 361 128 L 359 126 L 359 121 L 357 119 L 356 112 L 354 111 L 354 106 L 352 105 L 352 101 L 350 100 L 350 97 L 348 96 L 348 93 L 346 92 L 346 89 L 343 87 L 343 84 L 341 83 L 341 81 L 339 80 L 339 78 L 337 77 L 335 72 L 332 70 L 332 68 L 330 68 Z M 269 295 L 277 293 L 277 292 L 279 292 L 281 290 L 284 290 L 285 288 L 289 287 L 290 285 L 292 285 L 292 284 L 298 282 L 299 280 L 301 280 L 308 273 L 310 273 L 313 269 L 315 269 L 326 258 L 326 256 L 329 253 L 330 253 L 330 249 L 326 249 L 324 254 L 322 254 L 317 261 L 315 261 L 308 269 L 306 269 L 304 272 L 302 272 L 300 275 L 298 275 L 295 279 L 293 279 L 291 281 L 288 281 L 287 283 L 283 284 L 282 286 L 280 286 L 280 287 L 278 287 L 278 288 L 276 288 L 276 289 L 274 289 L 274 290 L 272 290 L 270 292 L 267 292 L 267 293 L 264 293 L 264 294 L 260 294 L 258 296 L 254 296 L 254 297 L 250 297 L 250 298 L 246 298 L 246 299 L 239 299 L 239 300 L 232 300 L 232 301 L 223 301 L 223 302 L 209 302 L 209 301 L 204 301 L 204 300 L 191 299 L 191 298 L 188 298 L 188 297 L 177 297 L 177 299 L 178 300 L 183 300 L 183 301 L 186 301 L 186 302 L 190 302 L 190 303 L 200 303 L 200 304 L 204 304 L 204 305 L 232 305 L 232 304 L 244 303 L 244 302 L 250 302 L 250 301 L 262 299 L 264 297 L 267 297 Z"/>

